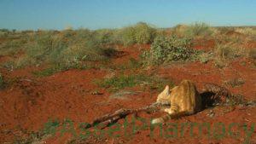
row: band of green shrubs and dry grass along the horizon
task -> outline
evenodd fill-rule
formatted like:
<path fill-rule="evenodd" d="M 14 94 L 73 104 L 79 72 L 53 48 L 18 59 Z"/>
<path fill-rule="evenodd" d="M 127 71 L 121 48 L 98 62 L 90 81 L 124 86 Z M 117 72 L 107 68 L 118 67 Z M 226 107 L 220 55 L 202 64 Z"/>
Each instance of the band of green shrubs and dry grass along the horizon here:
<path fill-rule="evenodd" d="M 211 27 L 206 23 L 177 25 L 168 30 L 156 29 L 144 22 L 120 29 L 96 31 L 69 28 L 61 32 L 19 32 L 2 29 L 0 55 L 11 57 L 2 64 L 9 71 L 24 66 L 50 66 L 39 75 L 90 67 L 87 66 L 88 61 L 110 60 L 117 53 L 117 45 L 146 43 L 151 44 L 151 48 L 142 57 L 143 63 L 149 65 L 177 60 L 215 60 L 221 63 L 242 54 L 255 57 L 253 50 L 245 51 L 242 48 L 250 40 L 255 40 L 255 31 L 254 27 Z M 212 53 L 192 49 L 192 44 L 198 38 L 214 39 L 216 48 L 212 49 Z M 213 59 L 214 56 L 216 58 Z"/>

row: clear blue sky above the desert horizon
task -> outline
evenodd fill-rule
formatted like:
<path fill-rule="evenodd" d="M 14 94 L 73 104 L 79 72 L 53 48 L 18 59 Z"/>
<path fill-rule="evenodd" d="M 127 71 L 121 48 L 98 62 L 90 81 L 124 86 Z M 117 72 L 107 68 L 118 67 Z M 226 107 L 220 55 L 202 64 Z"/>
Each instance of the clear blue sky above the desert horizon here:
<path fill-rule="evenodd" d="M 256 0 L 0 0 L 0 28 L 101 29 L 139 21 L 156 27 L 256 26 Z"/>

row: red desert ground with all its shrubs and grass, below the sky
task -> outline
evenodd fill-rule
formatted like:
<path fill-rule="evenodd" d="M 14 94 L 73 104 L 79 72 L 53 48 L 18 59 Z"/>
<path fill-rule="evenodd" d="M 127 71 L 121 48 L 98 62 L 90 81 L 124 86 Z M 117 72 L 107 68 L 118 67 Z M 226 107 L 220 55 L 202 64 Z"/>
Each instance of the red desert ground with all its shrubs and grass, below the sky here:
<path fill-rule="evenodd" d="M 2 30 L 0 143 L 256 143 L 255 49 L 255 27 Z M 198 91 L 218 84 L 235 99 L 163 125 L 150 125 L 165 115 L 157 111 L 83 127 L 148 106 L 183 79 Z"/>

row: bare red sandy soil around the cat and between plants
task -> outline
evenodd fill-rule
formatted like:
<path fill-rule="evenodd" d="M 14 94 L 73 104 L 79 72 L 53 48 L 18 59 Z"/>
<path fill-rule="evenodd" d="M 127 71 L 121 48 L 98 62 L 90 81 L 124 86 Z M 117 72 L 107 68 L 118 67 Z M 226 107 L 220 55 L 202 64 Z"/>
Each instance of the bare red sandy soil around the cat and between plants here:
<path fill-rule="evenodd" d="M 198 49 L 207 47 L 209 49 L 213 44 L 209 41 L 207 44 L 197 46 Z M 149 45 L 134 46 L 129 48 L 120 48 L 125 55 L 114 59 L 113 64 L 123 64 L 130 58 L 137 59 L 141 49 L 148 49 Z M 4 60 L 4 58 L 0 58 Z M 0 61 L 1 62 L 1 61 Z M 69 70 L 67 72 L 58 72 L 52 76 L 37 78 L 32 75 L 32 71 L 38 68 L 28 67 L 14 72 L 4 72 L 6 78 L 19 77 L 20 81 L 9 86 L 7 89 L 0 91 L 0 143 L 12 142 L 17 137 L 26 137 L 26 131 L 42 130 L 44 124 L 49 118 L 59 118 L 61 120 L 70 118 L 75 125 L 75 131 L 81 132 L 78 125 L 83 122 L 91 122 L 94 118 L 102 116 L 108 112 L 114 112 L 119 108 L 138 108 L 149 105 L 156 100 L 157 91 L 147 91 L 130 95 L 128 99 L 110 99 L 107 89 L 101 89 L 94 83 L 95 79 L 104 78 L 109 74 L 104 69 L 89 70 Z M 247 100 L 256 100 L 256 69 L 253 68 L 251 60 L 237 59 L 223 69 L 218 69 L 212 61 L 207 64 L 200 62 L 189 63 L 173 63 L 168 66 L 160 66 L 148 69 L 148 73 L 154 73 L 162 78 L 170 78 L 175 84 L 179 84 L 183 79 L 191 79 L 195 82 L 198 89 L 202 88 L 204 83 L 219 84 L 230 89 L 232 93 L 244 95 Z M 225 85 L 224 82 L 233 78 L 242 78 L 245 84 L 232 88 Z M 133 88 L 140 89 L 139 87 Z M 91 92 L 100 91 L 103 95 L 91 95 Z M 214 116 L 208 114 L 213 112 Z M 178 136 L 173 138 L 165 138 L 160 136 L 159 128 L 154 130 L 154 136 L 149 135 L 150 129 L 138 130 L 130 137 L 124 135 L 124 129 L 115 132 L 120 134 L 119 137 L 106 136 L 102 139 L 90 138 L 87 141 L 76 141 L 77 143 L 242 143 L 247 140 L 246 134 L 242 129 L 242 125 L 232 128 L 240 135 L 231 137 L 228 135 L 228 127 L 231 123 L 248 124 L 253 126 L 256 123 L 256 107 L 213 107 L 198 112 L 195 115 L 170 120 L 170 123 L 209 123 L 211 126 L 218 122 L 225 124 L 226 133 L 224 137 L 219 139 L 208 137 L 206 131 L 203 130 L 201 137 L 190 136 L 189 130 L 185 130 L 185 134 L 180 135 L 180 127 L 178 126 Z M 164 114 L 157 112 L 148 114 L 139 113 L 142 118 L 147 118 L 149 124 L 150 118 L 155 118 Z M 131 122 L 131 116 L 128 117 Z M 124 124 L 122 119 L 118 122 Z M 137 126 L 142 124 L 136 121 Z M 110 130 L 107 128 L 106 130 Z M 131 132 L 131 128 L 128 128 Z M 211 131 L 212 132 L 212 131 Z M 195 130 L 195 134 L 197 134 Z M 256 143 L 256 130 L 248 138 L 251 143 Z M 211 134 L 212 135 L 212 134 Z M 59 132 L 55 136 L 45 137 L 42 143 L 67 143 L 71 141 L 73 136 L 70 133 L 60 135 Z"/>

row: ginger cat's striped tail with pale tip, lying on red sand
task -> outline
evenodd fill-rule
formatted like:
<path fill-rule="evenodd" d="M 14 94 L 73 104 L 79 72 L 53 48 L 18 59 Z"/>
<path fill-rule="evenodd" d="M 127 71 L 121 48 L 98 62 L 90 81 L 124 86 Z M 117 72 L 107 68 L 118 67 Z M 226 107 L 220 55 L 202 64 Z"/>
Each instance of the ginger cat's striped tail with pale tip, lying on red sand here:
<path fill-rule="evenodd" d="M 173 118 L 180 118 L 184 115 L 187 115 L 189 114 L 188 112 L 177 112 L 177 113 L 172 113 L 172 114 L 166 114 L 160 118 L 154 118 L 152 121 L 151 121 L 151 124 L 163 124 L 165 123 L 166 121 L 170 120 L 170 119 L 173 119 Z"/>

